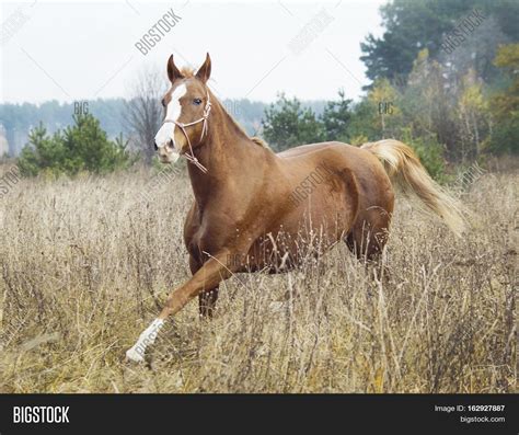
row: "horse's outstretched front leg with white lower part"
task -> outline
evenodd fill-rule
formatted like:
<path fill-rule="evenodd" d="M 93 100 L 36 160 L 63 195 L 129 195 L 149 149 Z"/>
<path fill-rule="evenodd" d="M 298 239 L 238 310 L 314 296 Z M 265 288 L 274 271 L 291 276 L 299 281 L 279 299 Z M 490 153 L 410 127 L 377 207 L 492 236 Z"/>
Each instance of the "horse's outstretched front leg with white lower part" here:
<path fill-rule="evenodd" d="M 228 250 L 222 251 L 209 259 L 187 283 L 171 293 L 159 317 L 140 334 L 137 343 L 126 352 L 129 359 L 142 362 L 146 348 L 155 341 L 169 316 L 177 313 L 201 291 L 217 287 L 220 282 L 231 276 L 233 267 L 232 265 L 228 267 L 227 264 L 229 252 Z"/>

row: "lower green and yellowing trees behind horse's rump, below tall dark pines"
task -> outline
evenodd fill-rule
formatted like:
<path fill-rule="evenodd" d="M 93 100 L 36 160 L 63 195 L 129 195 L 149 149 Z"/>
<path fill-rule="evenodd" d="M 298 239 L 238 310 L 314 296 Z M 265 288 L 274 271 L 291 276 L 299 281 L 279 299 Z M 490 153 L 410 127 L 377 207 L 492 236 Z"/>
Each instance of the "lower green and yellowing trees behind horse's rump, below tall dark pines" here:
<path fill-rule="evenodd" d="M 377 79 L 355 104 L 339 91 L 337 100 L 315 114 L 281 94 L 265 112 L 263 135 L 276 150 L 396 138 L 417 151 L 432 176 L 441 178 L 447 162 L 466 164 L 487 154 L 519 152 L 519 44 L 500 46 L 493 64 L 501 72 L 498 83 L 485 83 L 472 68 L 454 82 L 424 48 L 405 85 Z"/>

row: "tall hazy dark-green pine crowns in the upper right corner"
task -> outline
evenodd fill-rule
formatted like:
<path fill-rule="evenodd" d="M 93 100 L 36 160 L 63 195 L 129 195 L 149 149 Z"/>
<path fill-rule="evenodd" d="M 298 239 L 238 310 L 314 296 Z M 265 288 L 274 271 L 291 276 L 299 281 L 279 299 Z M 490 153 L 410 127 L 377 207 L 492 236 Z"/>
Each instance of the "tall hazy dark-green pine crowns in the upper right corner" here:
<path fill-rule="evenodd" d="M 476 71 L 486 78 L 484 75 L 492 72 L 495 42 L 503 42 L 498 32 L 510 41 L 519 37 L 519 3 L 515 0 L 394 0 L 384 4 L 380 13 L 385 32 L 381 37 L 369 34 L 360 44 L 364 54 L 360 59 L 366 64 L 368 78 L 372 81 L 387 78 L 391 82 L 405 82 L 418 51 L 427 48 L 430 58 L 438 59 L 442 55 L 441 44 L 446 36 L 475 9 L 486 19 L 482 27 L 470 34 L 463 44 L 471 45 L 472 39 L 478 38 L 477 43 L 472 44 L 478 47 Z M 497 24 L 492 24 L 489 18 Z M 458 53 L 459 49 L 453 56 Z"/>

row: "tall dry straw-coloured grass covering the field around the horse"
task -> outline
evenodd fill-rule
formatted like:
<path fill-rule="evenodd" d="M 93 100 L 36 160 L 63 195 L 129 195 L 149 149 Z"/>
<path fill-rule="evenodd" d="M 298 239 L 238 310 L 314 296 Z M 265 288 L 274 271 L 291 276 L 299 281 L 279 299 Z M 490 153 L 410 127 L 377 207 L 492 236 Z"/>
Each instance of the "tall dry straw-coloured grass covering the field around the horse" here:
<path fill-rule="evenodd" d="M 343 245 L 321 266 L 233 277 L 212 321 L 192 302 L 138 366 L 125 351 L 189 276 L 188 183 L 151 178 L 24 180 L 0 199 L 0 391 L 515 390 L 517 174 L 471 187 L 463 240 L 400 201 L 390 281 Z"/>

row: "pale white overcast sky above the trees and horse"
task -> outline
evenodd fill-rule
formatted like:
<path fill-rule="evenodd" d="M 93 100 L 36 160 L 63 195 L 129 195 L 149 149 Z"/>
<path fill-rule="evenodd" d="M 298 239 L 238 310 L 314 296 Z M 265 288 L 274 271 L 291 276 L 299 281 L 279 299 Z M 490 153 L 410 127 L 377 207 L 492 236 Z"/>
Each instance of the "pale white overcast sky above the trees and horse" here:
<path fill-rule="evenodd" d="M 128 96 L 142 68 L 165 80 L 170 54 L 198 67 L 206 51 L 220 98 L 333 99 L 342 88 L 357 99 L 368 83 L 359 44 L 380 35 L 384 2 L 2 2 L 1 102 Z M 135 44 L 172 10 L 174 26 L 155 26 L 145 56 Z"/>

